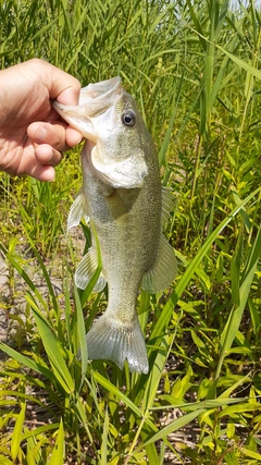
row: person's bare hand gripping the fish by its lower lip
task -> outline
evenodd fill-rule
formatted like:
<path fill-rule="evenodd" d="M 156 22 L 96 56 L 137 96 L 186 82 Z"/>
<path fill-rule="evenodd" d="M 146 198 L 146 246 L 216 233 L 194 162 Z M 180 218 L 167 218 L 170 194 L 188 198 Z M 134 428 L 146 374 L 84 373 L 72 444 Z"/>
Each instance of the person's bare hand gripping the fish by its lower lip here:
<path fill-rule="evenodd" d="M 51 99 L 77 105 L 79 82 L 44 60 L 0 71 L 0 170 L 52 181 L 61 151 L 82 135 L 52 108 Z"/>

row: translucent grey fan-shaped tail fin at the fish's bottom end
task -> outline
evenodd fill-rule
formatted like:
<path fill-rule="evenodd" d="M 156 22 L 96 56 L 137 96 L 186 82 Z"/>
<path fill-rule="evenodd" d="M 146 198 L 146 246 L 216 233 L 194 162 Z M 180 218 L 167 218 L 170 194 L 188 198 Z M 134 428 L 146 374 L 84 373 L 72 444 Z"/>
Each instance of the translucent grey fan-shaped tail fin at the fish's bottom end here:
<path fill-rule="evenodd" d="M 104 314 L 94 323 L 86 339 L 90 360 L 107 358 L 123 369 L 126 359 L 130 371 L 148 372 L 146 345 L 138 320 L 126 329 Z"/>

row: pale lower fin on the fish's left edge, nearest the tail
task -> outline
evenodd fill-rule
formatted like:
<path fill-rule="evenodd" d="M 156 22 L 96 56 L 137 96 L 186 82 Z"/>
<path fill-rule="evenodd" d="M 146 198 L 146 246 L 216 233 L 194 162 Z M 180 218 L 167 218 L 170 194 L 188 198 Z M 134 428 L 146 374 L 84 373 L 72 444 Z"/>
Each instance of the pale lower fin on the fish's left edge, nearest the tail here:
<path fill-rule="evenodd" d="M 76 268 L 74 281 L 77 287 L 85 290 L 90 278 L 94 276 L 98 267 L 97 253 L 94 247 L 90 247 Z M 105 286 L 105 278 L 101 273 L 95 284 L 94 292 L 100 292 Z"/>

